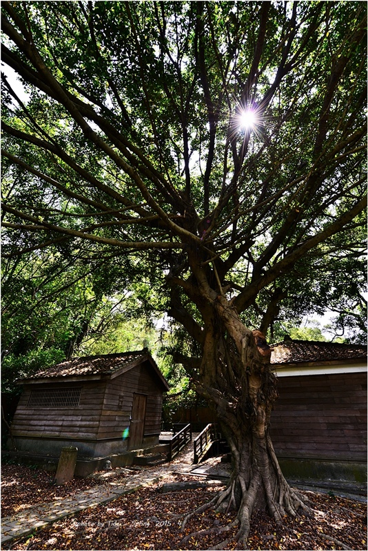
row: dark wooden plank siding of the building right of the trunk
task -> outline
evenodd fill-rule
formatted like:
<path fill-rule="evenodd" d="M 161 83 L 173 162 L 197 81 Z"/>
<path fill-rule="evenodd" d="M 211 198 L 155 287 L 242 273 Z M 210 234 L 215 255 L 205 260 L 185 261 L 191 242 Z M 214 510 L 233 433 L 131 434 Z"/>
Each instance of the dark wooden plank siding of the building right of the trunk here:
<path fill-rule="evenodd" d="M 278 379 L 271 436 L 279 457 L 367 457 L 367 373 Z"/>

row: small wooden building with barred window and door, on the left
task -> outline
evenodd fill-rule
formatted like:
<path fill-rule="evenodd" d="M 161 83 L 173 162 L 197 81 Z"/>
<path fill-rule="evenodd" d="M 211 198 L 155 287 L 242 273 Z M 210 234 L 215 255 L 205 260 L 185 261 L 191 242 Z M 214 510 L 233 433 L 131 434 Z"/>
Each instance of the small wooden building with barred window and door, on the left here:
<path fill-rule="evenodd" d="M 169 389 L 146 350 L 79 357 L 23 384 L 12 421 L 19 452 L 102 457 L 158 444 L 163 392 Z"/>

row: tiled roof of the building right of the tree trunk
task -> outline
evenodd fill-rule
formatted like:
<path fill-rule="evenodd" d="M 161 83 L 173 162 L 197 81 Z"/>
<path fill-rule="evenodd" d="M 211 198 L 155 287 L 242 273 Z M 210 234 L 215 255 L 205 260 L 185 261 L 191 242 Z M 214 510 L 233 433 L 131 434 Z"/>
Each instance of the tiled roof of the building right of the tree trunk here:
<path fill-rule="evenodd" d="M 365 346 L 337 342 L 290 340 L 273 344 L 271 349 L 271 364 L 366 360 L 367 358 Z"/>

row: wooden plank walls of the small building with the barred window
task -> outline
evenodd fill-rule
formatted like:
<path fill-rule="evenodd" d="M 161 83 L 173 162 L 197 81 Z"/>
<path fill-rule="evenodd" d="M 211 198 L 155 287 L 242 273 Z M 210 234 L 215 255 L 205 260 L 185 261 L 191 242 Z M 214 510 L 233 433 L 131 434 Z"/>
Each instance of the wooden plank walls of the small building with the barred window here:
<path fill-rule="evenodd" d="M 83 386 L 79 406 L 75 408 L 30 408 L 32 390 L 62 388 L 61 384 L 25 386 L 12 422 L 16 436 L 48 436 L 72 439 L 121 438 L 129 426 L 133 394 L 147 395 L 145 436 L 158 435 L 161 430 L 162 388 L 150 364 L 145 362 L 112 380 L 65 383 L 63 386 Z"/>

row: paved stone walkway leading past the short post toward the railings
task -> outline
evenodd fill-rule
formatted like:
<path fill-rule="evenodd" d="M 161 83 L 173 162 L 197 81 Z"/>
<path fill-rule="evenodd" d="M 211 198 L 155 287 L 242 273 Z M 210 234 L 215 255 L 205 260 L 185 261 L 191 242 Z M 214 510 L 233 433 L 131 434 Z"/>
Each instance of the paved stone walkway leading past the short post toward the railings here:
<path fill-rule="evenodd" d="M 164 479 L 172 472 L 178 470 L 190 470 L 188 464 L 170 463 L 157 468 L 140 470 L 136 474 L 119 481 L 110 481 L 101 486 L 94 486 L 90 490 L 84 490 L 72 497 L 60 498 L 48 503 L 31 507 L 18 512 L 12 517 L 1 519 L 1 543 L 6 543 L 14 538 L 26 536 L 36 528 L 44 528 L 49 523 L 68 517 L 88 507 L 99 503 L 108 503 L 117 497 L 135 492 L 154 482 Z"/>

